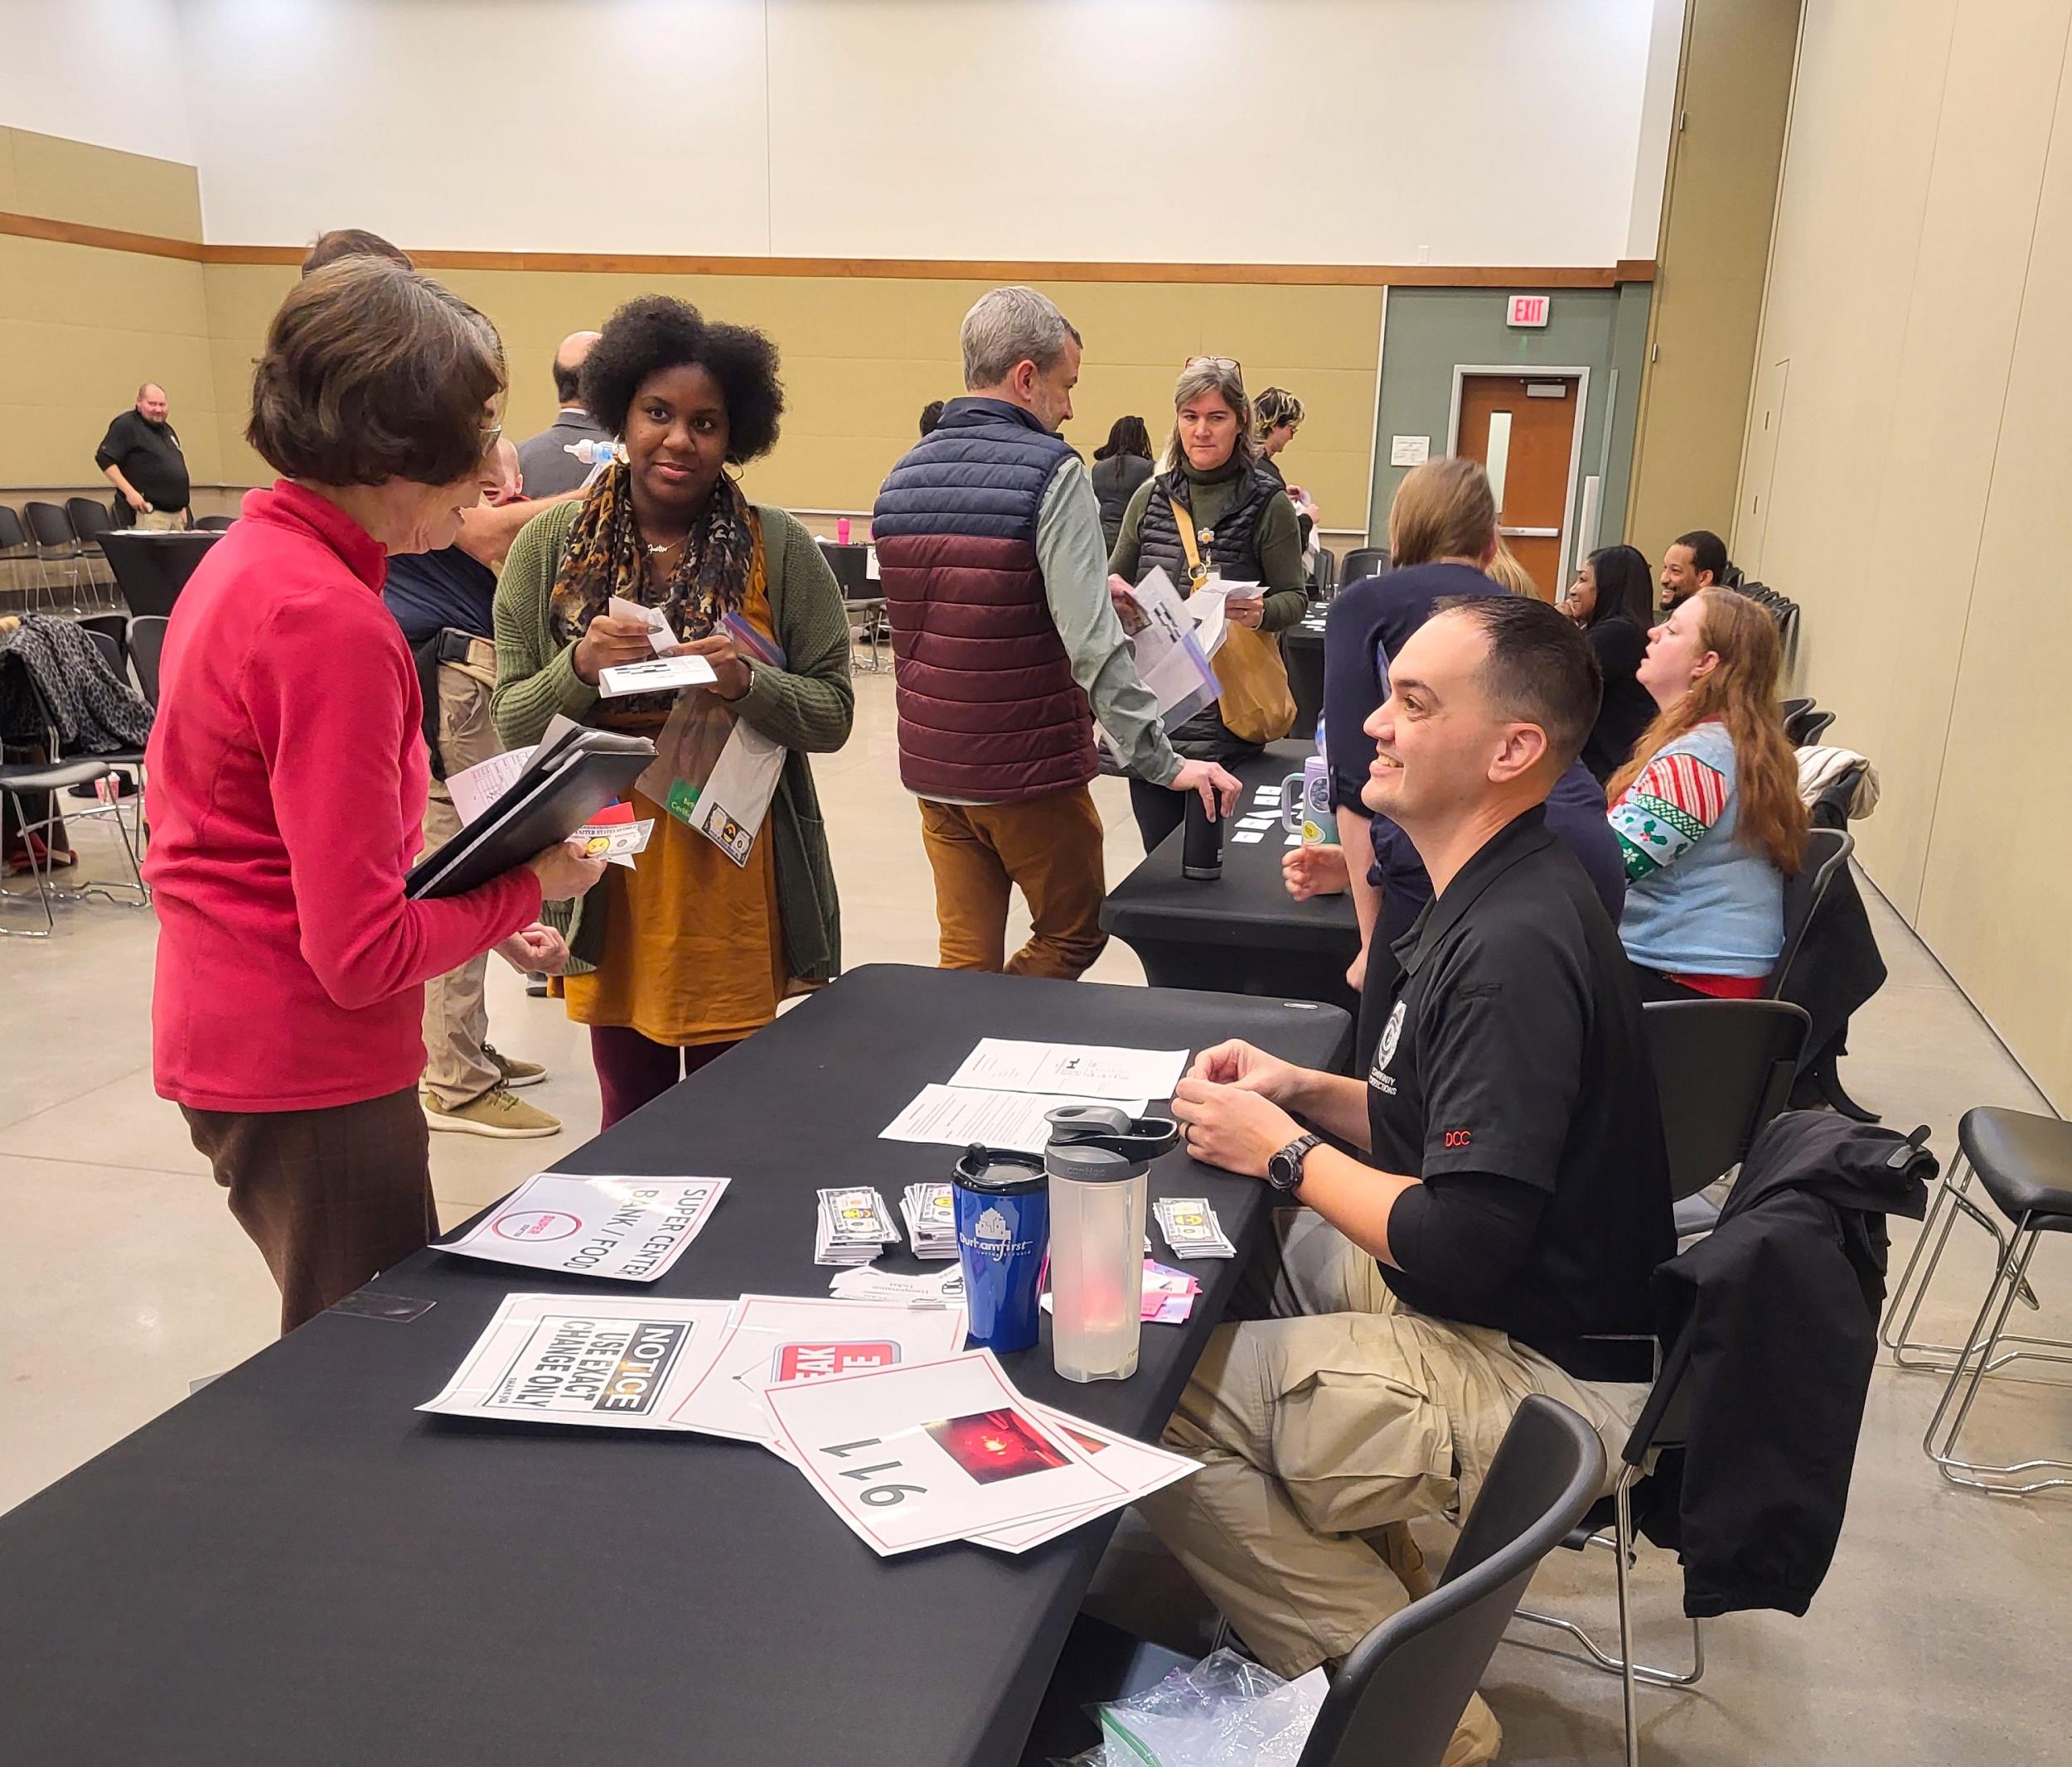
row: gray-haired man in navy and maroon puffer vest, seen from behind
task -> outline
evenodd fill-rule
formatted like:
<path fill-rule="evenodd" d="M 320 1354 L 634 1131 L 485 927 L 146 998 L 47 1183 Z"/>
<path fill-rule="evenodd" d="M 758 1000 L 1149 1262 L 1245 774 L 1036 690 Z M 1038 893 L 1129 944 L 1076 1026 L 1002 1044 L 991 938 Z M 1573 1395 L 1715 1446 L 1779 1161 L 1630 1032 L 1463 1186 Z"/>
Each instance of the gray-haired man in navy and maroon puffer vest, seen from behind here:
<path fill-rule="evenodd" d="M 1034 288 L 963 315 L 966 396 L 891 470 L 872 539 L 893 626 L 899 779 L 920 798 L 945 969 L 1071 980 L 1100 955 L 1094 719 L 1123 766 L 1210 814 L 1237 779 L 1183 760 L 1109 601 L 1100 503 L 1057 429 L 1080 334 Z M 1007 897 L 1034 930 L 1007 957 Z"/>

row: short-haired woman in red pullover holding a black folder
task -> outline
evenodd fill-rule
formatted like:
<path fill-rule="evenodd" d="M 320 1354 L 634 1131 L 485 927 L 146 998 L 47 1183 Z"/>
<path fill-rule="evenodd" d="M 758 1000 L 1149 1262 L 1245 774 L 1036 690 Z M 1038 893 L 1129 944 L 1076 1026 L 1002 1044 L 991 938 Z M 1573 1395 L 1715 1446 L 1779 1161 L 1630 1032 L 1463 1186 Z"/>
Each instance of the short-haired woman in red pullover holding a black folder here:
<path fill-rule="evenodd" d="M 495 949 L 557 969 L 541 899 L 568 847 L 406 901 L 429 769 L 390 553 L 452 545 L 477 499 L 503 348 L 383 259 L 300 282 L 253 371 L 251 491 L 166 632 L 147 752 L 157 1090 L 265 1253 L 292 1330 L 437 1230 L 416 1079 L 423 984 Z"/>

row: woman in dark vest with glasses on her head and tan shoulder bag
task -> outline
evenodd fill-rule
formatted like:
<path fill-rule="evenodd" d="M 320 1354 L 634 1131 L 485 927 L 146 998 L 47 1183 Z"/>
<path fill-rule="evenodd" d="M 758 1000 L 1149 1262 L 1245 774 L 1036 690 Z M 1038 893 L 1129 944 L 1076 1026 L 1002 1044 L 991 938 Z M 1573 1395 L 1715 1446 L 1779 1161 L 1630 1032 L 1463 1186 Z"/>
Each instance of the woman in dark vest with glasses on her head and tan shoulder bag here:
<path fill-rule="evenodd" d="M 1225 582 L 1251 584 L 1227 603 L 1233 626 L 1285 632 L 1307 605 L 1301 530 L 1278 474 L 1260 464 L 1239 365 L 1229 356 L 1189 360 L 1173 387 L 1173 418 L 1162 470 L 1138 489 L 1123 512 L 1123 528 L 1109 553 L 1109 570 L 1119 578 L 1111 590 L 1129 588 L 1162 568 L 1181 595 L 1191 595 L 1214 574 Z M 1287 698 L 1278 646 L 1256 648 L 1258 657 L 1268 657 L 1268 692 L 1278 688 L 1289 706 L 1280 727 L 1254 725 L 1237 733 L 1225 721 L 1227 702 L 1218 700 L 1169 731 L 1183 756 L 1231 764 L 1258 754 L 1262 742 L 1287 735 L 1285 717 L 1293 715 L 1293 700 Z M 1254 669 L 1260 667 L 1258 657 Z M 1227 659 L 1218 655 L 1216 667 L 1229 696 Z M 1135 779 L 1129 781 L 1129 808 L 1144 835 L 1144 851 L 1171 835 L 1185 814 L 1173 791 L 1140 787 Z"/>

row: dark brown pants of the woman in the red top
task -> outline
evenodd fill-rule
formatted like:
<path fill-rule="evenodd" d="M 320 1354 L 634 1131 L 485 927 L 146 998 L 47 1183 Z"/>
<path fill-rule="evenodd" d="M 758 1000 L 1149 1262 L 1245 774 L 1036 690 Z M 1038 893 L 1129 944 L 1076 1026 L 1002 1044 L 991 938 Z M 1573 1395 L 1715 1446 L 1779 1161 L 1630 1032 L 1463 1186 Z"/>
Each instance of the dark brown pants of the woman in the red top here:
<path fill-rule="evenodd" d="M 186 1131 L 230 1191 L 292 1332 L 439 1230 L 431 1129 L 416 1090 L 325 1110 L 191 1110 Z"/>

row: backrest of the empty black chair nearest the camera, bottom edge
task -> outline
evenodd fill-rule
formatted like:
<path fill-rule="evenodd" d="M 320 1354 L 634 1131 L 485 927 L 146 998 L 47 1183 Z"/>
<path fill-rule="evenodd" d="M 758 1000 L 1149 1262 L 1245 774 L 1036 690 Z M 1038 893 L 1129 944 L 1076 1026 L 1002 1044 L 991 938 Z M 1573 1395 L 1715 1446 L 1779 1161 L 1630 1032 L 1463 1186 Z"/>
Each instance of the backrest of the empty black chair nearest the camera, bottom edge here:
<path fill-rule="evenodd" d="M 1438 1767 L 1533 1570 L 1604 1489 L 1604 1444 L 1533 1394 L 1510 1419 L 1446 1576 L 1361 1639 L 1297 1767 Z"/>

